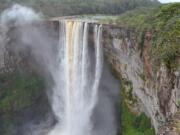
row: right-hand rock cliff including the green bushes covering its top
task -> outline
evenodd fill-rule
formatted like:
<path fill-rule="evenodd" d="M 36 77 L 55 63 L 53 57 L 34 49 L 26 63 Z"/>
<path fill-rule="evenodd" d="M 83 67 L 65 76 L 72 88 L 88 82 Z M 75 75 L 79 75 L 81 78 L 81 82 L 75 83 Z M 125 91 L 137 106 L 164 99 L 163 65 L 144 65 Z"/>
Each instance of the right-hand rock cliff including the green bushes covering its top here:
<path fill-rule="evenodd" d="M 159 134 L 179 134 L 179 4 L 139 12 L 111 20 L 126 26 L 105 30 L 105 54 L 129 111 L 145 112 Z"/>

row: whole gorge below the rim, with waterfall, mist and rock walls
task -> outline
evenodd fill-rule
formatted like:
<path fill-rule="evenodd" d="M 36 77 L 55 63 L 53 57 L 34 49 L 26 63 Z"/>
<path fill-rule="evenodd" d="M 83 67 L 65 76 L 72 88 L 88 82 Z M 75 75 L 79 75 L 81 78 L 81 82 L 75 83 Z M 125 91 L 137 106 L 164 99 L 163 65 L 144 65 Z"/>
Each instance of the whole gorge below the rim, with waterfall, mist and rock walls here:
<path fill-rule="evenodd" d="M 179 135 L 180 61 L 151 58 L 154 31 L 26 11 L 1 18 L 1 88 L 25 85 L 0 95 L 0 134 Z"/>

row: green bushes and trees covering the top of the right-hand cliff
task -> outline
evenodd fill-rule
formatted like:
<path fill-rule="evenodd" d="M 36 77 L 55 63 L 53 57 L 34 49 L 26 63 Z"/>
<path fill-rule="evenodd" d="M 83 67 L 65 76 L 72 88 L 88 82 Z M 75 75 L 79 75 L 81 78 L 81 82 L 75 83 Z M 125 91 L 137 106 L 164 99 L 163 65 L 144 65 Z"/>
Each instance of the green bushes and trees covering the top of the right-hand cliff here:
<path fill-rule="evenodd" d="M 145 33 L 151 32 L 152 60 L 159 64 L 163 61 L 170 71 L 180 66 L 176 62 L 180 57 L 180 3 L 164 4 L 158 8 L 139 8 L 120 16 L 106 18 L 101 20 L 101 23 L 113 23 L 135 29 L 141 48 Z"/>

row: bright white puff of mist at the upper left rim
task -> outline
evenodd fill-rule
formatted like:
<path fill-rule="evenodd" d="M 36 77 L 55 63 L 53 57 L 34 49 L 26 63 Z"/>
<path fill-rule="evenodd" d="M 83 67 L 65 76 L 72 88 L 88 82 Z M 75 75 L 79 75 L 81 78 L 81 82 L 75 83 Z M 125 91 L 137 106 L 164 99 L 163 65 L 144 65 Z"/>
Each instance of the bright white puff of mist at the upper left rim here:
<path fill-rule="evenodd" d="M 23 23 L 31 23 L 40 20 L 40 14 L 31 8 L 15 4 L 0 14 L 0 68 L 4 66 L 5 44 L 9 37 L 6 34 L 10 26 L 18 26 Z"/>

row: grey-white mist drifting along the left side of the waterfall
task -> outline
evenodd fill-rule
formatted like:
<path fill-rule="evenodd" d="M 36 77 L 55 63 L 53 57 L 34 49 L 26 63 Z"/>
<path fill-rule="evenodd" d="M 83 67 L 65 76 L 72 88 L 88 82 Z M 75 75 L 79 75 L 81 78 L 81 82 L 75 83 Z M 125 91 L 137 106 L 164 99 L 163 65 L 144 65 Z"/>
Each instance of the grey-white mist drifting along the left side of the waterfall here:
<path fill-rule="evenodd" d="M 51 71 L 50 68 L 54 67 L 53 64 L 55 63 L 53 61 L 55 60 L 53 46 L 57 45 L 55 42 L 56 40 L 51 35 L 51 32 L 43 24 L 41 14 L 28 7 L 13 5 L 2 12 L 0 16 L 0 69 L 4 66 L 4 57 L 10 56 L 8 60 L 15 59 L 17 60 L 16 62 L 25 59 L 28 62 L 28 66 L 30 66 L 28 68 L 35 69 L 45 79 L 49 79 L 47 72 Z M 5 56 L 4 54 L 7 55 Z M 47 101 L 43 104 L 46 104 L 47 108 L 49 107 Z M 44 132 L 54 122 L 51 108 L 44 112 L 44 114 L 47 114 L 45 118 L 35 119 L 39 117 L 39 114 L 34 114 L 34 118 L 28 120 L 33 111 L 28 112 L 29 115 L 26 115 L 20 121 L 23 127 L 15 125 L 13 135 L 45 134 Z M 16 130 L 18 130 L 17 133 Z"/>

